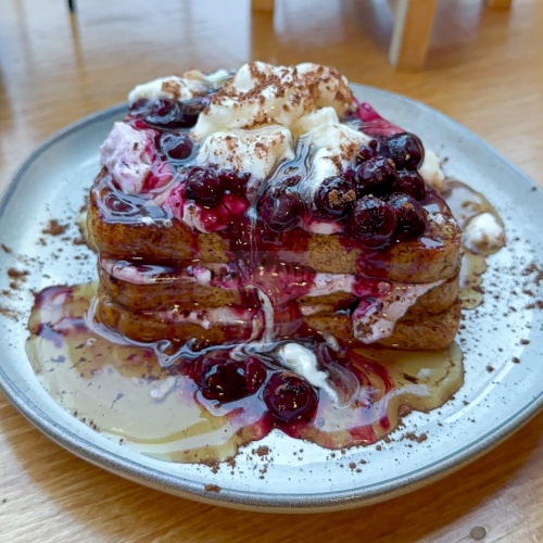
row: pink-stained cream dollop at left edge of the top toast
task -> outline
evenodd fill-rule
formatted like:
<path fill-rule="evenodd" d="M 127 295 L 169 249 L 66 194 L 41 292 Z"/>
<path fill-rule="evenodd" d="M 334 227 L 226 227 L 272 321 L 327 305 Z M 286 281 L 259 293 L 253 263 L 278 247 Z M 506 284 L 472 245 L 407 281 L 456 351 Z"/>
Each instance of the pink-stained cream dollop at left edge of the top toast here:
<path fill-rule="evenodd" d="M 100 162 L 105 166 L 121 190 L 137 194 L 153 165 L 152 130 L 135 130 L 126 123 L 115 123 L 100 148 Z"/>

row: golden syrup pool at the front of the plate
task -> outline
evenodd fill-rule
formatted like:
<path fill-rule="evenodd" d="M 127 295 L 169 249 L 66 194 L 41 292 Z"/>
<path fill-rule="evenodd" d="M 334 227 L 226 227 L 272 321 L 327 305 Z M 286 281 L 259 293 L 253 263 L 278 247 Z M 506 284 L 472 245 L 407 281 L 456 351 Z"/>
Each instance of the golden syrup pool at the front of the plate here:
<path fill-rule="evenodd" d="M 368 445 L 397 427 L 399 412 L 437 408 L 463 383 L 462 352 L 454 343 L 432 352 L 346 350 L 328 367 L 341 381 L 340 401 L 319 389 L 310 421 L 280 425 L 266 409 L 262 388 L 240 401 L 206 401 L 182 361 L 162 367 L 156 344 L 101 333 L 88 320 L 94 296 L 94 283 L 51 287 L 38 294 L 27 342 L 35 372 L 81 421 L 166 460 L 225 460 L 276 426 L 328 449 Z"/>

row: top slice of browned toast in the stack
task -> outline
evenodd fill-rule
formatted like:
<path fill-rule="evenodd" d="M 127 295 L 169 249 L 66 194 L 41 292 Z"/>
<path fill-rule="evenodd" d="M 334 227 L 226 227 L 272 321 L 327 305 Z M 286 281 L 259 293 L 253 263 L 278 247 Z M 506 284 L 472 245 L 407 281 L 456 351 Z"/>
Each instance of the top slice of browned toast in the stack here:
<path fill-rule="evenodd" d="M 417 240 L 397 240 L 368 250 L 343 233 L 308 235 L 302 228 L 279 235 L 278 256 L 330 274 L 357 274 L 400 282 L 432 282 L 453 277 L 459 266 L 462 232 L 444 201 L 429 189 L 428 227 Z M 118 211 L 112 211 L 117 209 Z M 91 190 L 88 214 L 91 240 L 102 257 L 152 263 L 228 263 L 231 248 L 220 232 L 192 231 L 154 199 L 121 194 L 105 171 Z M 285 239 L 285 238 L 288 238 Z M 300 240 L 292 243 L 292 239 Z M 266 254 L 270 251 L 266 248 Z M 237 251 L 238 257 L 243 257 Z"/>

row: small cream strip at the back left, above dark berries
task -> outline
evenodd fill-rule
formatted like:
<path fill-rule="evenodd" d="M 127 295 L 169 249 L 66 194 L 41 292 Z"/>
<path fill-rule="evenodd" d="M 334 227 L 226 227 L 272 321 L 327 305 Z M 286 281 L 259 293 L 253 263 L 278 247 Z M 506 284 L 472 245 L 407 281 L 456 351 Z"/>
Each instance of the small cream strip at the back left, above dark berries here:
<path fill-rule="evenodd" d="M 151 81 L 137 85 L 128 93 L 128 103 L 132 105 L 138 100 L 191 100 L 205 94 L 210 88 L 218 89 L 230 74 L 226 70 L 217 70 L 212 74 L 202 74 L 199 70 L 191 70 L 182 76 L 169 75 Z"/>

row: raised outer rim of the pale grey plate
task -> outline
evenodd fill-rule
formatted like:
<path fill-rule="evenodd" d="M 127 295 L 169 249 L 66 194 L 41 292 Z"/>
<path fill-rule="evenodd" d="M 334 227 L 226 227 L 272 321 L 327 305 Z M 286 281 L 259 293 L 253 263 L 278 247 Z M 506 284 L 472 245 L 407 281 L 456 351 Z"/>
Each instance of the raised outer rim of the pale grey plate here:
<path fill-rule="evenodd" d="M 527 174 L 518 166 L 513 164 L 508 159 L 501 155 L 480 136 L 470 131 L 453 118 L 434 108 L 419 102 L 409 97 L 405 97 L 395 92 L 379 89 L 376 87 L 351 84 L 353 90 L 364 92 L 369 89 L 372 92 L 400 100 L 412 108 L 421 110 L 426 114 L 431 114 L 440 122 L 449 124 L 458 132 L 468 136 L 471 140 L 476 140 L 478 144 L 485 148 L 496 159 L 507 164 L 516 171 L 522 182 L 528 186 L 535 187 L 540 192 L 543 189 L 539 187 Z M 124 110 L 127 110 L 126 103 L 119 103 L 111 108 L 91 113 L 80 119 L 67 125 L 59 131 L 55 131 L 50 137 L 45 139 L 21 164 L 11 177 L 5 190 L 0 197 L 0 219 L 7 209 L 13 193 L 17 188 L 21 178 L 33 163 L 45 153 L 50 147 L 63 138 L 84 130 L 87 125 L 98 123 L 102 119 L 121 115 Z M 92 443 L 86 438 L 77 434 L 68 428 L 65 428 L 55 420 L 34 401 L 27 396 L 24 391 L 20 390 L 15 383 L 11 382 L 8 375 L 4 372 L 3 366 L 0 364 L 0 388 L 3 390 L 11 403 L 25 416 L 35 427 L 48 435 L 52 441 L 66 449 L 76 456 L 90 462 L 108 471 L 125 477 L 129 480 L 146 484 L 156 490 L 169 492 L 181 497 L 197 500 L 200 502 L 223 505 L 250 510 L 267 510 L 275 513 L 318 513 L 325 510 L 339 510 L 352 507 L 370 505 L 374 503 L 386 501 L 390 497 L 400 496 L 407 492 L 430 484 L 447 475 L 463 468 L 467 464 L 476 460 L 483 454 L 487 454 L 491 449 L 497 446 L 505 439 L 528 424 L 543 407 L 543 390 L 533 396 L 531 401 L 510 415 L 500 426 L 492 428 L 479 440 L 472 441 L 465 445 L 459 451 L 447 456 L 441 456 L 433 459 L 425 466 L 415 469 L 414 471 L 404 472 L 393 479 L 388 479 L 384 483 L 371 483 L 370 485 L 355 485 L 350 490 L 329 491 L 319 494 L 292 494 L 292 493 L 270 493 L 263 494 L 262 492 L 222 489 L 220 492 L 209 492 L 200 482 L 187 479 L 185 476 L 166 473 L 153 466 L 138 463 L 130 458 L 126 458 L 122 454 L 108 451 L 100 444 Z M 400 484 L 399 484 L 400 482 Z"/>

